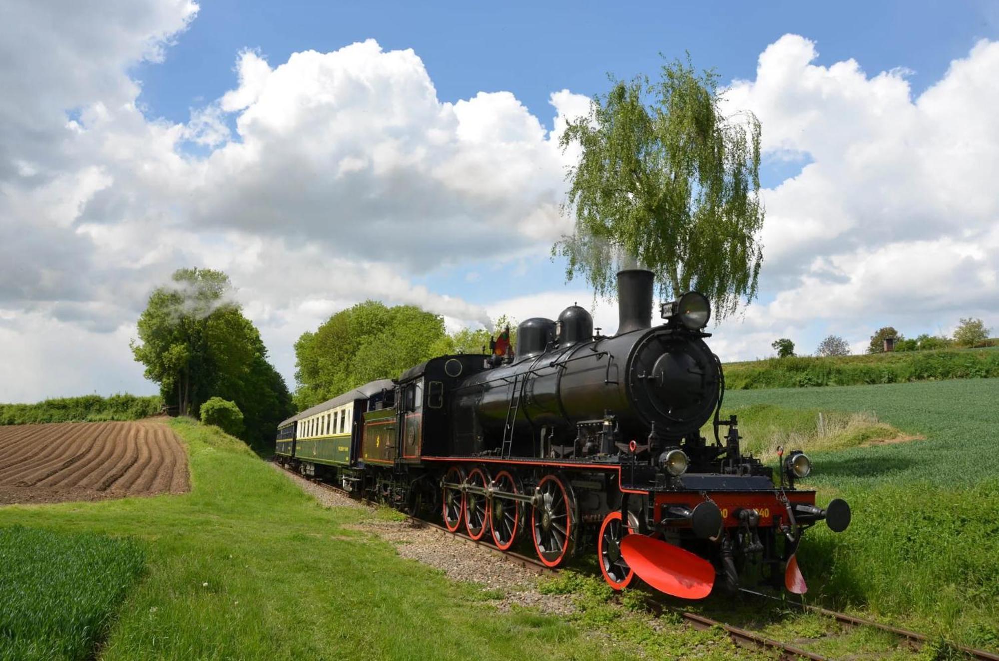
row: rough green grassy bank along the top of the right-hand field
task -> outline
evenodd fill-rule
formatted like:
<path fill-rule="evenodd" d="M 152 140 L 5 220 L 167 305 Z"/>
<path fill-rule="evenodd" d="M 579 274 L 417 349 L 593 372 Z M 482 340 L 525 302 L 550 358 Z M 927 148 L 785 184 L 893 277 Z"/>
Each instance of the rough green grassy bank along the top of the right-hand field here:
<path fill-rule="evenodd" d="M 724 368 L 725 387 L 734 390 L 990 378 L 999 376 L 999 347 L 789 356 L 731 362 Z"/>

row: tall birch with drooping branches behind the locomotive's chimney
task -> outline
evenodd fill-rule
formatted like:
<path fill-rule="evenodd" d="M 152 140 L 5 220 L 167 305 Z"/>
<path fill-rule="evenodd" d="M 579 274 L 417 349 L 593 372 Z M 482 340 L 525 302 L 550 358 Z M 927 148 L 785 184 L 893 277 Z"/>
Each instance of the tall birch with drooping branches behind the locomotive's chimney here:
<path fill-rule="evenodd" d="M 760 124 L 724 116 L 718 75 L 698 75 L 689 57 L 654 82 L 611 82 L 562 134 L 563 149 L 581 148 L 563 208 L 575 232 L 552 254 L 567 258 L 568 280 L 581 274 L 601 296 L 619 269 L 647 267 L 660 293 L 697 290 L 721 320 L 756 296 L 763 262 Z"/>

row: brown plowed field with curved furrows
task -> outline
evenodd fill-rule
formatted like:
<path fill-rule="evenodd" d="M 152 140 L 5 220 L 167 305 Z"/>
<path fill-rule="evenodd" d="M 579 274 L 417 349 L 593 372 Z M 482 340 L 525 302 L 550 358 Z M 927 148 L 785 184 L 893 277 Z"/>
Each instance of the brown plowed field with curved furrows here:
<path fill-rule="evenodd" d="M 0 504 L 189 489 L 187 452 L 162 422 L 0 426 Z"/>

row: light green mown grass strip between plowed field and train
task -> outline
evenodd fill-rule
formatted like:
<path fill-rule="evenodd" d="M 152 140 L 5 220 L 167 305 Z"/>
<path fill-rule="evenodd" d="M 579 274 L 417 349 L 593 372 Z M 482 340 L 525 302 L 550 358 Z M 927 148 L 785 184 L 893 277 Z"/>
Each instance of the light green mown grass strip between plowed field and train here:
<path fill-rule="evenodd" d="M 349 527 L 369 511 L 324 509 L 244 443 L 191 420 L 172 424 L 190 451 L 188 494 L 0 508 L 0 526 L 146 543 L 148 576 L 125 600 L 104 659 L 638 655 L 639 642 L 615 644 L 559 617 L 500 612 L 495 592 Z M 717 637 L 714 658 L 728 658 Z"/>

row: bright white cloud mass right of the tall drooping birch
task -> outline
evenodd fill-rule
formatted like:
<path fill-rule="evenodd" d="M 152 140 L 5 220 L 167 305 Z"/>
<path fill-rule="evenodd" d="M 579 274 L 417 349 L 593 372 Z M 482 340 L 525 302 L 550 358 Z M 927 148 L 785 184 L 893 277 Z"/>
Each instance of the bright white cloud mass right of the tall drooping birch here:
<path fill-rule="evenodd" d="M 730 108 L 762 122 L 765 153 L 811 162 L 763 192 L 772 303 L 723 329 L 770 331 L 751 343 L 759 355 L 792 322 L 826 321 L 809 341 L 834 327 L 860 345 L 889 323 L 996 320 L 999 118 L 989 109 L 999 104 L 999 43 L 979 42 L 916 98 L 904 70 L 868 76 L 853 60 L 825 67 L 817 57 L 813 42 L 785 35 L 760 55 L 755 80 L 728 90 Z"/>

